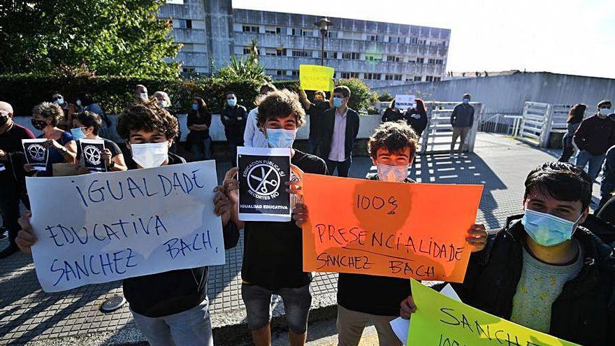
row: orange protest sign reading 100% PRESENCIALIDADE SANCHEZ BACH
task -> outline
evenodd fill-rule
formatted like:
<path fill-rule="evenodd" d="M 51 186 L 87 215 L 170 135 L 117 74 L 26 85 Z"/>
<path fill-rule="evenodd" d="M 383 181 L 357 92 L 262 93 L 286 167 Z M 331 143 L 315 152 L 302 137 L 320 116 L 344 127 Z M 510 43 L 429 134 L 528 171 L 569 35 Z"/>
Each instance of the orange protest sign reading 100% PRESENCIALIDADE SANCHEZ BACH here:
<path fill-rule="evenodd" d="M 482 185 L 303 175 L 303 270 L 463 282 Z"/>

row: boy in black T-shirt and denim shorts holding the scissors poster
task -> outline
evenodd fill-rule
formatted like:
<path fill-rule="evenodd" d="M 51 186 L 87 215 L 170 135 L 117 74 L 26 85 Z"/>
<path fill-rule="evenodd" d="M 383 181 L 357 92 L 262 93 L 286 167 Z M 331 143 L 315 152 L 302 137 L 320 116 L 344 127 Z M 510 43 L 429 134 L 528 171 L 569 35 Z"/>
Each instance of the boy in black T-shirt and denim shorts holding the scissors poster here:
<path fill-rule="evenodd" d="M 305 122 L 298 95 L 287 89 L 270 92 L 261 96 L 258 106 L 257 119 L 268 146 L 292 147 L 297 129 Z M 326 164 L 322 159 L 296 149 L 291 149 L 291 164 L 305 173 L 326 174 Z M 241 292 L 252 341 L 257 346 L 270 345 L 271 296 L 277 294 L 284 301 L 290 345 L 305 345 L 307 316 L 312 302 L 312 273 L 303 271 L 301 229 L 291 221 L 239 221 L 239 185 L 233 178 L 236 173 L 237 168 L 226 173 L 224 191 L 234 204 L 232 222 L 244 229 Z"/>

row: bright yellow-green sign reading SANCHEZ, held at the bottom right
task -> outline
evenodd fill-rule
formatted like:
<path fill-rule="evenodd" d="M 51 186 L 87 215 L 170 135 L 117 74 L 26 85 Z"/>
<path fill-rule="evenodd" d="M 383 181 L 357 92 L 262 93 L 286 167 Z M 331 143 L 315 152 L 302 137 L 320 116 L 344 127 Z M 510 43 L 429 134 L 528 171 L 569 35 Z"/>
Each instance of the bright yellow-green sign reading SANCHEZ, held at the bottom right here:
<path fill-rule="evenodd" d="M 577 345 L 472 308 L 416 280 L 412 280 L 412 297 L 417 312 L 410 319 L 407 345 Z"/>

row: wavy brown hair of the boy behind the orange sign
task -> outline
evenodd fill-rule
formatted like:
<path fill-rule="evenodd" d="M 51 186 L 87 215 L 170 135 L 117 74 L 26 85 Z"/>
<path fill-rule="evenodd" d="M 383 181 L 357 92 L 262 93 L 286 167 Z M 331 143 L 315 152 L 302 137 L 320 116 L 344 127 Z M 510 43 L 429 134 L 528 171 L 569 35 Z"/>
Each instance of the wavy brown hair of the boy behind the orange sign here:
<path fill-rule="evenodd" d="M 398 152 L 405 147 L 410 147 L 410 158 L 417 153 L 419 137 L 406 122 L 385 122 L 377 127 L 376 131 L 368 140 L 368 153 L 376 158 L 379 149 L 385 147 L 390 152 Z"/>

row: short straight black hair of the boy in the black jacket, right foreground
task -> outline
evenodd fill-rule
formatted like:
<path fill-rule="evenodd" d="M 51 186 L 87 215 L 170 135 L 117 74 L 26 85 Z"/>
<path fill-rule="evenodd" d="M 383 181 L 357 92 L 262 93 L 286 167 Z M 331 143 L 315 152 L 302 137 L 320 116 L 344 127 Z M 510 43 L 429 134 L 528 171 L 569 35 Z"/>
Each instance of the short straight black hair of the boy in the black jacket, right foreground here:
<path fill-rule="evenodd" d="M 591 189 L 591 178 L 583 168 L 567 162 L 546 162 L 528 174 L 523 198 L 538 191 L 560 201 L 581 201 L 585 209 L 591 203 Z"/>

